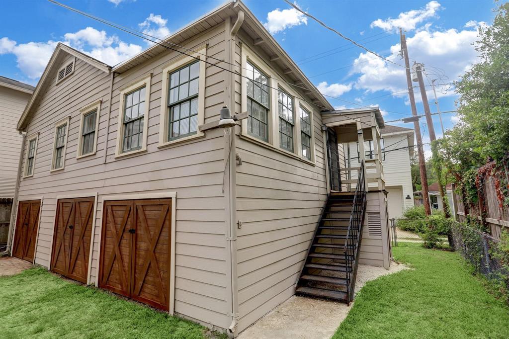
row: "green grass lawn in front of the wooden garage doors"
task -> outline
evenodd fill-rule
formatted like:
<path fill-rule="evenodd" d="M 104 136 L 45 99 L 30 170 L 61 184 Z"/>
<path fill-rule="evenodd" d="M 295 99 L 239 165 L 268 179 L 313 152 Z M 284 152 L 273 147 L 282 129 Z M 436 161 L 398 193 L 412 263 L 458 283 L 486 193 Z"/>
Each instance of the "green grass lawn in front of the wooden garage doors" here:
<path fill-rule="evenodd" d="M 2 338 L 204 338 L 206 328 L 42 268 L 0 277 Z"/>

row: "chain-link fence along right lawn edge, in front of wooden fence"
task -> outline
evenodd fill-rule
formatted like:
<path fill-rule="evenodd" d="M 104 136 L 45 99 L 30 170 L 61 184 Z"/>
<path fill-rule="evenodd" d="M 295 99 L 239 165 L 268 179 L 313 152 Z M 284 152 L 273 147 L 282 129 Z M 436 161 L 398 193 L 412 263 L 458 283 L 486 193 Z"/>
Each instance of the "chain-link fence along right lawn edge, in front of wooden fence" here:
<path fill-rule="evenodd" d="M 478 273 L 509 290 L 509 255 L 499 248 L 499 240 L 487 233 L 454 222 L 455 250 L 470 262 Z"/>

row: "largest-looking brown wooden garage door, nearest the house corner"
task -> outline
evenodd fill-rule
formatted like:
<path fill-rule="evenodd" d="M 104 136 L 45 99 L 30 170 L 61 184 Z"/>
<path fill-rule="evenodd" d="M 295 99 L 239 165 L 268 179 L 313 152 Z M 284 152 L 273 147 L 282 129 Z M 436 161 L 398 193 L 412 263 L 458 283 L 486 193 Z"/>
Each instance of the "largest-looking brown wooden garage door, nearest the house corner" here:
<path fill-rule="evenodd" d="M 106 201 L 99 287 L 169 308 L 171 199 Z"/>

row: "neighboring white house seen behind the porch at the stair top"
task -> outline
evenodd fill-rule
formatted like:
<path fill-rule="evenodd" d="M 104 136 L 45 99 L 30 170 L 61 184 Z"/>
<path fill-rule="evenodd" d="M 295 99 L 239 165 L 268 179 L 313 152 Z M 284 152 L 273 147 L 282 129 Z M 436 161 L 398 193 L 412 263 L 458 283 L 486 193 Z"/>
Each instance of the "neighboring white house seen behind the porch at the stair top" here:
<path fill-rule="evenodd" d="M 388 216 L 397 218 L 408 207 L 414 206 L 410 156 L 413 154 L 414 130 L 385 125 L 381 130 L 381 149 L 385 189 L 387 190 Z M 358 166 L 358 143 L 344 145 L 347 167 Z M 366 159 L 373 158 L 373 140 L 364 141 Z"/>

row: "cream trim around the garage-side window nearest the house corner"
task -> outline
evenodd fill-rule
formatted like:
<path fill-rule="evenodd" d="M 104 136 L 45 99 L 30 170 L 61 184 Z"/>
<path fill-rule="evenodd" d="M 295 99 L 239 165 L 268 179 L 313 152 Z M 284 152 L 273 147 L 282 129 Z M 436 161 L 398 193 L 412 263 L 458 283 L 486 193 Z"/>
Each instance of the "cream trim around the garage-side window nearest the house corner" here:
<path fill-rule="evenodd" d="M 166 147 L 169 145 L 174 145 L 182 142 L 186 142 L 191 139 L 199 138 L 205 136 L 203 131 L 198 129 L 198 126 L 203 125 L 205 123 L 205 69 L 206 64 L 203 60 L 207 53 L 207 46 L 203 46 L 200 49 L 196 50 L 194 53 L 190 54 L 192 56 L 181 56 L 176 60 L 171 61 L 170 63 L 162 66 L 162 89 L 161 89 L 161 112 L 159 118 L 159 144 L 157 147 Z M 193 58 L 194 56 L 194 58 Z M 183 138 L 175 139 L 167 141 L 168 136 L 168 119 L 169 119 L 169 111 L 168 111 L 168 88 L 169 88 L 169 75 L 187 64 L 191 64 L 196 61 L 195 58 L 200 59 L 200 75 L 198 80 L 198 122 L 196 125 L 196 134 L 185 136 Z"/>

